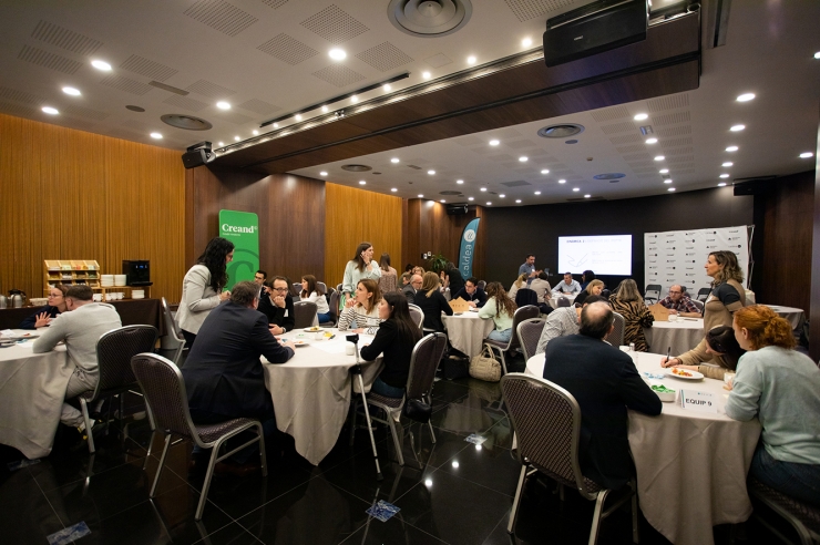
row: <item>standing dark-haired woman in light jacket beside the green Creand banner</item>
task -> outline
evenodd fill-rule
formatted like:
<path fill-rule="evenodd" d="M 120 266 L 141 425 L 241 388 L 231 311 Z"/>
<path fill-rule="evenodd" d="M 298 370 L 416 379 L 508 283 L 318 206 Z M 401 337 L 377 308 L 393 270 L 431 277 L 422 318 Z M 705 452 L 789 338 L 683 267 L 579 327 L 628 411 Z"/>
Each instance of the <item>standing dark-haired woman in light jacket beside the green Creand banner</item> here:
<path fill-rule="evenodd" d="M 188 348 L 194 346 L 196 333 L 211 309 L 230 297 L 230 291 L 223 291 L 223 288 L 228 284 L 227 265 L 233 259 L 234 243 L 214 237 L 196 265 L 185 274 L 176 320 Z"/>

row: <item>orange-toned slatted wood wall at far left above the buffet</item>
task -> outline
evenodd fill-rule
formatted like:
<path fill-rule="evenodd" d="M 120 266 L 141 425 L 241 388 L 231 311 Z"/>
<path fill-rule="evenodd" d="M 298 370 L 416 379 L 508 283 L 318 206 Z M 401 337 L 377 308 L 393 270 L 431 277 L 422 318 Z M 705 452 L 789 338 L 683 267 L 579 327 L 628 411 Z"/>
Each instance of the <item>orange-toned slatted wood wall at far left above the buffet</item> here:
<path fill-rule="evenodd" d="M 0 291 L 42 297 L 44 259 L 95 259 L 105 274 L 150 259 L 151 296 L 178 300 L 178 152 L 2 114 L 0 145 Z"/>

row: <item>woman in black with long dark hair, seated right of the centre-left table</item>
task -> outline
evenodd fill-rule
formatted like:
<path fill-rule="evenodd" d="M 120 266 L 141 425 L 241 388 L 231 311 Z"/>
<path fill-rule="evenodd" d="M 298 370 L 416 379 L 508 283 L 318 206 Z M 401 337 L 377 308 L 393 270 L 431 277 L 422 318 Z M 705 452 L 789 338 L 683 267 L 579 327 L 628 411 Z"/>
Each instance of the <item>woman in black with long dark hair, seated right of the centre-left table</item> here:
<path fill-rule="evenodd" d="M 435 272 L 432 275 L 438 279 Z M 385 367 L 370 391 L 388 398 L 401 398 L 410 374 L 413 347 L 421 340 L 421 330 L 413 322 L 407 298 L 401 294 L 385 294 L 379 301 L 379 318 L 382 321 L 373 342 L 361 349 L 361 357 L 367 361 L 385 354 Z"/>

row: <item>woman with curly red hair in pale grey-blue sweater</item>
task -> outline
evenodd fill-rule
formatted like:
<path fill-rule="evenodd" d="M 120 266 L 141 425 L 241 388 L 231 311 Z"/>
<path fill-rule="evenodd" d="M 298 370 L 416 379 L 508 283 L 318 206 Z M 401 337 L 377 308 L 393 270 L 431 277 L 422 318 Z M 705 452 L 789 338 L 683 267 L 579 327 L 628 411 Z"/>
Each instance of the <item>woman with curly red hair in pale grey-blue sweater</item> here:
<path fill-rule="evenodd" d="M 800 502 L 820 506 L 820 369 L 795 350 L 791 326 L 763 305 L 739 309 L 740 357 L 726 414 L 760 420 L 763 431 L 749 476 Z"/>

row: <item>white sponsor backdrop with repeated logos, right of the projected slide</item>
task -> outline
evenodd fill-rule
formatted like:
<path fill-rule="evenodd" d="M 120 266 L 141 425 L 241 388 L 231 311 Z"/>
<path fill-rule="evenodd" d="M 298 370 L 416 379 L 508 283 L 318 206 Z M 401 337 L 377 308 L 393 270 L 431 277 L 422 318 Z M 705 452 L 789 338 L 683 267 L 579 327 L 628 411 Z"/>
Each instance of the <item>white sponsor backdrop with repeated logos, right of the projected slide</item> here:
<path fill-rule="evenodd" d="M 666 297 L 669 286 L 680 284 L 690 297 L 708 288 L 711 278 L 704 265 L 710 251 L 731 250 L 749 275 L 749 237 L 745 225 L 714 229 L 668 230 L 644 234 L 644 272 L 646 285 L 659 284 Z M 745 280 L 744 280 L 745 284 Z"/>

